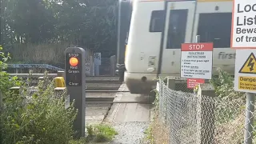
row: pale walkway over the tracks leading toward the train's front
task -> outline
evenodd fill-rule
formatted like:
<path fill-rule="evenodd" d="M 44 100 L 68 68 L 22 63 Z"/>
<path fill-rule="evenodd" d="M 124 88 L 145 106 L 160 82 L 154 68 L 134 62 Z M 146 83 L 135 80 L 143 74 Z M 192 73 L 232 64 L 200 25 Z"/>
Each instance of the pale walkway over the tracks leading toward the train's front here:
<path fill-rule="evenodd" d="M 125 84 L 119 90 L 128 90 Z M 130 94 L 129 92 L 119 92 L 114 101 L 136 101 L 148 102 L 148 96 L 140 94 Z M 111 144 L 139 144 L 145 137 L 145 130 L 150 125 L 152 118 L 151 104 L 138 103 L 114 103 L 104 123 L 110 124 L 117 130 L 118 135 Z"/>

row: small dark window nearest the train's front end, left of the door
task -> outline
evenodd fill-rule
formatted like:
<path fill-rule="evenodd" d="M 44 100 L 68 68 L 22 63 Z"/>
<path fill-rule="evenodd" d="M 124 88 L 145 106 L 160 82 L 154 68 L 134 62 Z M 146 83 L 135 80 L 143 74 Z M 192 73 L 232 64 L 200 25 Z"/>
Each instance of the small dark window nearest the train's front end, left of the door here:
<path fill-rule="evenodd" d="M 164 21 L 163 10 L 154 10 L 150 19 L 150 32 L 162 32 Z"/>

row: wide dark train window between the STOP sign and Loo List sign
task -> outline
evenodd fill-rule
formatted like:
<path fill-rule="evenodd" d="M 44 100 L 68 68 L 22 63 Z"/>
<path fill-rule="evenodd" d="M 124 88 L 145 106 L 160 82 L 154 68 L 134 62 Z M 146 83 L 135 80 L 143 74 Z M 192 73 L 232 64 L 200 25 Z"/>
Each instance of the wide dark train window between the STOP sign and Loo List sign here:
<path fill-rule="evenodd" d="M 200 14 L 198 35 L 201 42 L 214 42 L 214 48 L 230 47 L 232 13 Z"/>

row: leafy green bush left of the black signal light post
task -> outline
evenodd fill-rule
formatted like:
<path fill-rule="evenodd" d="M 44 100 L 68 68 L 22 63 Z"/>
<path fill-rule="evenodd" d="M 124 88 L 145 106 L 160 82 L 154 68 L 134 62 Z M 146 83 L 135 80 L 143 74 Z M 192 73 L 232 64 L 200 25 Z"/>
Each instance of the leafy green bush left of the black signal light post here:
<path fill-rule="evenodd" d="M 65 109 L 63 101 L 66 93 L 59 98 L 54 94 L 54 83 L 39 82 L 38 90 L 30 94 L 29 87 L 17 78 L 10 78 L 3 72 L 6 57 L 1 53 L 0 87 L 3 90 L 3 106 L 1 110 L 2 143 L 8 144 L 49 144 L 68 143 L 72 139 L 73 122 L 77 111 L 72 103 Z M 1 75 L 1 76 L 2 76 Z M 21 86 L 20 91 L 10 91 L 10 86 Z M 2 88 L 4 86 L 4 88 Z"/>

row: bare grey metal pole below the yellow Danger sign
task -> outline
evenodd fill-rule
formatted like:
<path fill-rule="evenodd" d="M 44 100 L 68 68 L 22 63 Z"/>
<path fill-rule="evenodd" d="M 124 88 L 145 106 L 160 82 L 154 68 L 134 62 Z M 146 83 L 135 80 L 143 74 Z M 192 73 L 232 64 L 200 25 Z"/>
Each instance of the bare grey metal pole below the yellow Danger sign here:
<path fill-rule="evenodd" d="M 254 126 L 254 102 L 255 94 L 246 93 L 246 120 L 245 120 L 245 137 L 246 144 L 252 144 L 253 126 Z"/>

